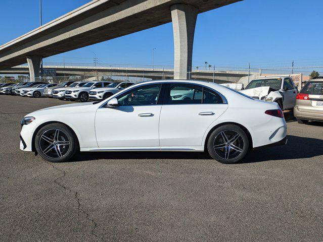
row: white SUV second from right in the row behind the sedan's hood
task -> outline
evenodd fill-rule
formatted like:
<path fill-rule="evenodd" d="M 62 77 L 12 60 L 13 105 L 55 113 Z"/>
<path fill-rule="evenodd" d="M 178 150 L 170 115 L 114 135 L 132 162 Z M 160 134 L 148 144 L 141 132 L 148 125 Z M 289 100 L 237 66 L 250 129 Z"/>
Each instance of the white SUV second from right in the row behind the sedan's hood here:
<path fill-rule="evenodd" d="M 87 82 L 82 87 L 74 87 L 65 91 L 65 98 L 68 100 L 80 100 L 86 102 L 88 92 L 94 88 L 101 88 L 109 85 L 111 82 Z"/>

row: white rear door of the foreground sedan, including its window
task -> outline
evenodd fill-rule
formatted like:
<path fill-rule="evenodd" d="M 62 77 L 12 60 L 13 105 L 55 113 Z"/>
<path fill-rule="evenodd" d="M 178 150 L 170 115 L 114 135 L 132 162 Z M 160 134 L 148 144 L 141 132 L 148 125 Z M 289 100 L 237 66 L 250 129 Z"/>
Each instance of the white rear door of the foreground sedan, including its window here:
<path fill-rule="evenodd" d="M 167 84 L 159 124 L 161 148 L 202 146 L 205 131 L 226 109 L 224 98 L 207 87 Z"/>

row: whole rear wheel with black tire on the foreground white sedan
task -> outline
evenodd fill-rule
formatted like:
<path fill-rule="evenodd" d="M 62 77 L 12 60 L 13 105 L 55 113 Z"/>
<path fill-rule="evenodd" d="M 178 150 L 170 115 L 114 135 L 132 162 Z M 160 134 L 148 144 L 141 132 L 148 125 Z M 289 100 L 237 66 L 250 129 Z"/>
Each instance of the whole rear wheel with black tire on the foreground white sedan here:
<path fill-rule="evenodd" d="M 213 159 L 223 164 L 234 164 L 248 153 L 248 136 L 239 126 L 223 125 L 212 132 L 207 149 Z"/>

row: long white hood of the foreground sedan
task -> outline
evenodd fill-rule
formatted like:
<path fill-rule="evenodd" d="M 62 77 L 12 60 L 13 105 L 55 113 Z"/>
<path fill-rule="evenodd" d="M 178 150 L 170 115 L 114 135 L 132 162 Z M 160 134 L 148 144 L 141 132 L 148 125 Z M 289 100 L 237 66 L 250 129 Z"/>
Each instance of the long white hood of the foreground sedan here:
<path fill-rule="evenodd" d="M 72 112 L 77 112 L 82 109 L 88 108 L 90 106 L 93 106 L 92 102 L 65 104 L 65 105 L 43 108 L 43 109 L 34 111 L 32 113 L 29 113 L 26 116 L 38 116 L 38 115 L 55 114 L 55 113 L 59 113 L 59 114 L 72 113 Z"/>

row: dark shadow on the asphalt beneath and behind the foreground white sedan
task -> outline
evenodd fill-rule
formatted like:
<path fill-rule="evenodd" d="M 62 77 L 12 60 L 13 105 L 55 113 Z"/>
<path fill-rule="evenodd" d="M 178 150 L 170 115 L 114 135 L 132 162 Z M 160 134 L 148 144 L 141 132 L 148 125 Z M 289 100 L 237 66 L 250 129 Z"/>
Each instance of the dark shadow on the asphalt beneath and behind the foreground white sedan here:
<path fill-rule="evenodd" d="M 301 148 L 300 148 L 301 147 Z M 267 147 L 247 154 L 240 163 L 255 163 L 270 160 L 305 159 L 323 155 L 323 141 L 320 139 L 288 136 L 287 145 Z M 207 152 L 82 152 L 69 162 L 90 160 L 211 160 Z"/>

